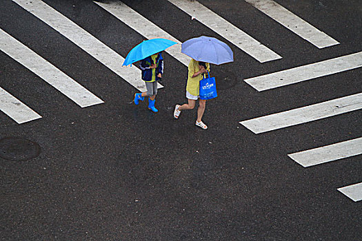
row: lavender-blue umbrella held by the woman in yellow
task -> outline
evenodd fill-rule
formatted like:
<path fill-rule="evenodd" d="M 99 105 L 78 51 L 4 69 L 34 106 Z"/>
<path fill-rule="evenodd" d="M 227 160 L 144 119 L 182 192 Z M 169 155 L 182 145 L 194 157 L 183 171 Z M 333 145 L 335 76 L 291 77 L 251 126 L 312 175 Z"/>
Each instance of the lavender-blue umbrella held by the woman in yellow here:
<path fill-rule="evenodd" d="M 234 61 L 234 54 L 230 47 L 210 36 L 199 36 L 185 41 L 181 45 L 181 52 L 196 61 L 215 65 Z"/>

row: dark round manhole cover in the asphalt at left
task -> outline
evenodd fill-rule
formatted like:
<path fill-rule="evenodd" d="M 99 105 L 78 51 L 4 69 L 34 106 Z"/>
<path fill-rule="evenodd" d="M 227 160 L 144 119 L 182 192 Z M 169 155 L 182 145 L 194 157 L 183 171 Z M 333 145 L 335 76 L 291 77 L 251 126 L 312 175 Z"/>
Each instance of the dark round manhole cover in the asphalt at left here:
<path fill-rule="evenodd" d="M 40 146 L 31 140 L 8 137 L 0 140 L 0 158 L 6 160 L 30 160 L 40 154 Z"/>

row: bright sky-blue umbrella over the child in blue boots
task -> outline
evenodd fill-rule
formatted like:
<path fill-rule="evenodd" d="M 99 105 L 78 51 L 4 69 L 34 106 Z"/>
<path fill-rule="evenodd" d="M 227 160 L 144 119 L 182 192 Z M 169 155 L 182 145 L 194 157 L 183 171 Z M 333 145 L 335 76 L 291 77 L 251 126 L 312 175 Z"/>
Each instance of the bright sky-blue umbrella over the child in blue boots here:
<path fill-rule="evenodd" d="M 132 65 L 132 63 L 145 59 L 152 54 L 156 54 L 165 50 L 177 42 L 170 41 L 168 39 L 149 39 L 139 43 L 125 57 L 125 61 L 122 66 Z"/>

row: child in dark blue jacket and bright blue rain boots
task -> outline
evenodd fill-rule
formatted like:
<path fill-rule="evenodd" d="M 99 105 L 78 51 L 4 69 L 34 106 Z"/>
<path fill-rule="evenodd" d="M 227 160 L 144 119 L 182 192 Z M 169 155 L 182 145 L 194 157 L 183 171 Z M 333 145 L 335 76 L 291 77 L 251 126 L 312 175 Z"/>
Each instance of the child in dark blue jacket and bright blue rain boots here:
<path fill-rule="evenodd" d="M 142 80 L 145 81 L 147 92 L 134 94 L 134 104 L 138 105 L 139 101 L 144 101 L 145 96 L 148 96 L 148 109 L 158 112 L 159 110 L 154 107 L 154 102 L 157 95 L 157 81 L 162 78 L 163 74 L 161 52 L 143 59 L 139 67 L 142 70 Z"/>

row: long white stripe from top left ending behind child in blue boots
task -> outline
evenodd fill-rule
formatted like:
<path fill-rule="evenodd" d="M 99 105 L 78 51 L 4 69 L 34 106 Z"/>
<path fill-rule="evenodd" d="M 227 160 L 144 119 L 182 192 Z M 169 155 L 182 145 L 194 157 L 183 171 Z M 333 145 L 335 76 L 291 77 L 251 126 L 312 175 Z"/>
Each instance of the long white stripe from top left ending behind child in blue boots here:
<path fill-rule="evenodd" d="M 28 10 L 35 17 L 50 25 L 67 39 L 78 45 L 81 49 L 107 66 L 114 73 L 118 74 L 125 81 L 136 87 L 139 91 L 145 92 L 145 83 L 141 80 L 141 70 L 137 67 L 121 67 L 124 58 L 114 52 L 107 45 L 92 36 L 86 30 L 73 23 L 70 19 L 39 0 L 12 0 L 22 8 Z M 162 87 L 162 85 L 158 85 Z"/>

